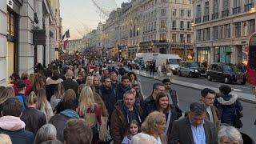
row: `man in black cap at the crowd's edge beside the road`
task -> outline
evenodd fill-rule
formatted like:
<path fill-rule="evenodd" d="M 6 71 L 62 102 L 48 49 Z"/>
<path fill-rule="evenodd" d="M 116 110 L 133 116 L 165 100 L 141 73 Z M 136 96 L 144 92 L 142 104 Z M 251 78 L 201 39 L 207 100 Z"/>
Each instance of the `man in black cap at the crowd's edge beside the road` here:
<path fill-rule="evenodd" d="M 168 97 L 170 99 L 169 100 L 170 104 L 174 106 L 179 106 L 178 95 L 176 90 L 171 89 L 170 79 L 169 78 L 163 79 L 162 84 L 164 84 L 166 87 L 166 93 L 168 94 Z"/>

